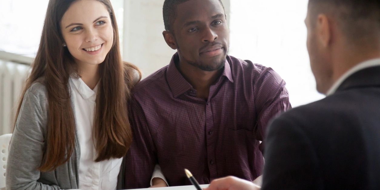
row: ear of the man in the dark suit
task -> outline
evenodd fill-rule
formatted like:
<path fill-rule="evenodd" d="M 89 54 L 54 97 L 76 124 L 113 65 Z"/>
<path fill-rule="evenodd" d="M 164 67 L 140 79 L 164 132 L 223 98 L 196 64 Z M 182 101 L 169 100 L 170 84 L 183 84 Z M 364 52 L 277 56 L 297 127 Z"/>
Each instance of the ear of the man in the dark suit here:
<path fill-rule="evenodd" d="M 327 47 L 331 42 L 331 23 L 325 14 L 318 15 L 317 19 L 317 36 L 323 47 Z"/>

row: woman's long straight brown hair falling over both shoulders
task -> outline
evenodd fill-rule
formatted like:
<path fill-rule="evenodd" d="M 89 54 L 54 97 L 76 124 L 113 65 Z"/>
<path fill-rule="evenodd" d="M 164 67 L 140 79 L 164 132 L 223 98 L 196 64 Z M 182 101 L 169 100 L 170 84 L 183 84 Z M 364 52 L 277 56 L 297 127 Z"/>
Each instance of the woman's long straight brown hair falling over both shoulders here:
<path fill-rule="evenodd" d="M 40 171 L 51 171 L 68 161 L 75 144 L 75 121 L 70 100 L 68 80 L 75 72 L 75 63 L 67 48 L 63 47 L 60 22 L 63 14 L 76 0 L 50 0 L 42 31 L 40 47 L 27 78 L 26 90 L 37 79 L 43 78 L 48 94 L 48 118 L 46 146 Z M 122 62 L 119 47 L 119 33 L 116 17 L 109 0 L 98 0 L 108 9 L 114 39 L 111 50 L 99 65 L 100 82 L 98 86 L 93 125 L 93 139 L 97 158 L 95 161 L 121 158 L 132 141 L 128 122 L 127 101 L 134 85 L 134 65 Z M 136 82 L 136 81 L 135 81 Z M 16 119 L 21 108 L 19 103 Z"/>

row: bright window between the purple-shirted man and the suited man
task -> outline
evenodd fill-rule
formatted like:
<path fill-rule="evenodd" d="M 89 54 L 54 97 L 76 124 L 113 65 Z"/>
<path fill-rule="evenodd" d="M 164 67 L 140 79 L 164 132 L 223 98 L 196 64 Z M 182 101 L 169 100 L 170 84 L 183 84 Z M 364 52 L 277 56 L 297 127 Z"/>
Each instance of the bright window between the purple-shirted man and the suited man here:
<path fill-rule="evenodd" d="M 272 67 L 287 82 L 293 107 L 319 100 L 306 49 L 308 0 L 231 0 L 230 52 Z"/>

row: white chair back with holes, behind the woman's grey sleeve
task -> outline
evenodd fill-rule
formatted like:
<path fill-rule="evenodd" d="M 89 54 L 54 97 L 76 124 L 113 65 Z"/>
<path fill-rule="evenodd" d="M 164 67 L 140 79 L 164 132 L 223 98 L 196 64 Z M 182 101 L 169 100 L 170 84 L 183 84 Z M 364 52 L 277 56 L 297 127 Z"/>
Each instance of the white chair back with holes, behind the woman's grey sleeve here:
<path fill-rule="evenodd" d="M 9 142 L 12 134 L 0 136 L 0 188 L 5 188 L 6 160 L 8 158 Z"/>

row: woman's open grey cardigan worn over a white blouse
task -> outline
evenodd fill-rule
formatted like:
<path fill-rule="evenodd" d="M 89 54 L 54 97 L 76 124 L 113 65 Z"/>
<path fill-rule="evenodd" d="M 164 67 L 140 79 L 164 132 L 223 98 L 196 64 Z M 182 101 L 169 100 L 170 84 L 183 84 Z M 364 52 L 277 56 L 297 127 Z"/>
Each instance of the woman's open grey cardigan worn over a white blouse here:
<path fill-rule="evenodd" d="M 73 102 L 71 100 L 74 111 Z M 41 165 L 43 150 L 46 146 L 47 106 L 47 89 L 43 81 L 39 80 L 25 92 L 13 131 L 6 168 L 6 189 L 8 190 L 59 190 L 76 189 L 79 186 L 81 150 L 77 132 L 74 152 L 66 163 L 58 166 L 54 171 L 37 170 Z M 123 165 L 122 163 L 117 188 L 120 188 L 123 182 Z"/>

